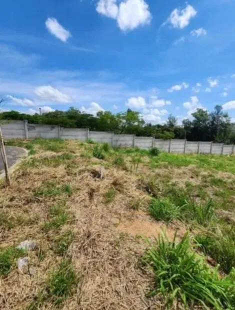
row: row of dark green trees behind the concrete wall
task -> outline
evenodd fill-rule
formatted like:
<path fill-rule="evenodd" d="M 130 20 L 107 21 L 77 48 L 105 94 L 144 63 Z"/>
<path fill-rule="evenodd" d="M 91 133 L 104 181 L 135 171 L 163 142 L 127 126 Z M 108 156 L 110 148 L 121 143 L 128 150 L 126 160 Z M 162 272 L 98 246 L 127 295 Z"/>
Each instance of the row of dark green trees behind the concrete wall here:
<path fill-rule="evenodd" d="M 189 141 L 213 141 L 235 143 L 234 124 L 220 105 L 213 111 L 197 109 L 190 119 L 184 119 L 177 125 L 177 119 L 169 115 L 165 124 L 145 123 L 139 112 L 127 109 L 113 114 L 110 111 L 99 111 L 97 115 L 87 114 L 70 107 L 66 111 L 29 115 L 17 111 L 0 113 L 1 119 L 27 120 L 33 124 L 60 125 L 65 128 L 89 128 L 94 131 L 112 131 L 114 133 L 136 134 L 136 136 L 155 136 L 159 139 L 187 139 Z"/>

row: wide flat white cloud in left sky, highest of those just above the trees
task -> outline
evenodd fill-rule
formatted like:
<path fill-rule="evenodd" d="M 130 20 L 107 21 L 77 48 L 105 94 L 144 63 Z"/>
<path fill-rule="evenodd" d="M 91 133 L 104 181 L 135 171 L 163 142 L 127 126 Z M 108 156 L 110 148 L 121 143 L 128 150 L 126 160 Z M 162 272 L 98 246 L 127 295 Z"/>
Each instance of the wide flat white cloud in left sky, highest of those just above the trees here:
<path fill-rule="evenodd" d="M 68 103 L 71 102 L 71 97 L 61 93 L 56 88 L 47 86 L 39 86 L 35 89 L 34 93 L 41 99 L 45 101 Z"/>

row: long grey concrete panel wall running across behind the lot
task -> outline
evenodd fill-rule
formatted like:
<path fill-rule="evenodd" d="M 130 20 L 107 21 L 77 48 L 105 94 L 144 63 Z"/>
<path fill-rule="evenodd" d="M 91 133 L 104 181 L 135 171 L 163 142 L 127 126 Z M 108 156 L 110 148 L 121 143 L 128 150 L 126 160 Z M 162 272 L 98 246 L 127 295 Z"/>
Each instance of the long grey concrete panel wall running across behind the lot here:
<path fill-rule="evenodd" d="M 4 139 L 61 138 L 96 142 L 107 142 L 112 146 L 139 147 L 148 149 L 155 146 L 171 153 L 234 154 L 234 145 L 211 142 L 192 142 L 179 139 L 160 140 L 152 137 L 136 137 L 133 134 L 113 134 L 105 131 L 89 131 L 79 128 L 62 128 L 55 125 L 28 124 L 27 121 L 9 121 L 1 126 Z"/>

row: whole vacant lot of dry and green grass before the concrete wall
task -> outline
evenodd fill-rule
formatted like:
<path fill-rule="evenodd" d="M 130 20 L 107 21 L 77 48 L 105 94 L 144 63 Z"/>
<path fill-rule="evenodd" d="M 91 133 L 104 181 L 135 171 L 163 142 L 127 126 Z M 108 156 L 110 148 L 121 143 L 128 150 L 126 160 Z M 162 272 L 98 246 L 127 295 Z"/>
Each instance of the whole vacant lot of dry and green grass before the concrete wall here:
<path fill-rule="evenodd" d="M 8 144 L 28 157 L 0 183 L 0 308 L 235 308 L 234 157 Z"/>

